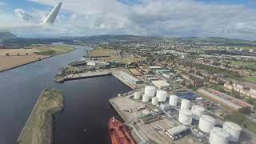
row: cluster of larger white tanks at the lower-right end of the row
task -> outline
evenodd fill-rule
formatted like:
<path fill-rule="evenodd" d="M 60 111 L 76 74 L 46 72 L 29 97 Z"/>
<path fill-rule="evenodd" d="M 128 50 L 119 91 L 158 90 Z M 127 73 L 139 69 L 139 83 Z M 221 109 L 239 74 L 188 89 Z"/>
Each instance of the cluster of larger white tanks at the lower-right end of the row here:
<path fill-rule="evenodd" d="M 238 126 L 234 122 L 224 122 L 223 128 L 214 127 L 216 119 L 210 115 L 206 115 L 205 111 L 206 109 L 202 106 L 192 106 L 190 110 L 190 101 L 182 99 L 178 121 L 186 126 L 191 125 L 192 119 L 199 121 L 199 130 L 210 134 L 210 144 L 238 142 L 242 131 L 241 126 Z"/>

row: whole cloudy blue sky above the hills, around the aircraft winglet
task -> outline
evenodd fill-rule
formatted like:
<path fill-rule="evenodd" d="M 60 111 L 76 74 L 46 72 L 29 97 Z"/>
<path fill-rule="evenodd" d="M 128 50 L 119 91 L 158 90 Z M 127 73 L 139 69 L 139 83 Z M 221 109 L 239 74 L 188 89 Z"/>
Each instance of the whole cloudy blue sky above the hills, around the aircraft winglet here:
<path fill-rule="evenodd" d="M 54 25 L 40 23 L 58 3 Z M 0 0 L 0 30 L 19 37 L 136 34 L 256 40 L 256 0 Z"/>

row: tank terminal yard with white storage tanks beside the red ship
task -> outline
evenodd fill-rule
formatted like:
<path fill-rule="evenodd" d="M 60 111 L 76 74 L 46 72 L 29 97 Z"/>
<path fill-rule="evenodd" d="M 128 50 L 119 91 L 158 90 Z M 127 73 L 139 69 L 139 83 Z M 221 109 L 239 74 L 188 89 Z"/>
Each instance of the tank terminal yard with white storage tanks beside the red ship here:
<path fill-rule="evenodd" d="M 119 79 L 126 84 L 134 83 L 126 77 Z M 204 106 L 155 86 L 140 86 L 129 93 L 118 94 L 110 99 L 110 104 L 130 128 L 137 143 L 256 142 L 250 132 L 238 124 L 224 122 Z"/>

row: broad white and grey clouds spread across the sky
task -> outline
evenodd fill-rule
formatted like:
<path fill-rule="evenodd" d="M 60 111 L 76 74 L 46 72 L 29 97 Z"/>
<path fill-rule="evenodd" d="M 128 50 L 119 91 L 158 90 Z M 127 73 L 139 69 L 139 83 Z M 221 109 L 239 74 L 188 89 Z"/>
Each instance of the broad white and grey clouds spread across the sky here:
<path fill-rule="evenodd" d="M 56 4 L 55 0 L 30 1 L 49 7 Z M 256 10 L 241 4 L 194 0 L 141 0 L 133 5 L 118 0 L 62 2 L 62 13 L 58 15 L 53 31 L 58 31 L 59 35 L 159 34 L 254 38 L 256 34 Z M 28 23 L 37 23 L 42 22 L 46 12 L 28 13 L 19 9 L 16 14 Z M 45 34 L 43 30 L 38 31 Z"/>

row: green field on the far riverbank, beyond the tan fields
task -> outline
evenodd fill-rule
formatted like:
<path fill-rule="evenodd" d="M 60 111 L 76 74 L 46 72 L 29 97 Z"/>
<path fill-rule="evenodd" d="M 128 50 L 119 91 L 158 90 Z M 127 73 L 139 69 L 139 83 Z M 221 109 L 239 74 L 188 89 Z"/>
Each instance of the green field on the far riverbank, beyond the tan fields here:
<path fill-rule="evenodd" d="M 38 55 L 63 54 L 74 50 L 73 47 L 67 45 L 37 46 L 34 48 L 40 51 L 37 53 Z"/>

